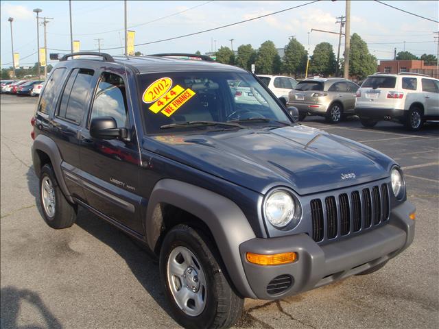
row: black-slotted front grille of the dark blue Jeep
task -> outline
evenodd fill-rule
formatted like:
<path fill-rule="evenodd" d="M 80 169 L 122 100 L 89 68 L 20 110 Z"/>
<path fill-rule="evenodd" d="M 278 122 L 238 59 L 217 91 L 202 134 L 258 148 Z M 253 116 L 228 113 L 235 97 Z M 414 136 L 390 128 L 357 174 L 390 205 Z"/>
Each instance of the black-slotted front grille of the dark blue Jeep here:
<path fill-rule="evenodd" d="M 310 207 L 314 241 L 348 236 L 389 219 L 388 185 L 312 199 Z"/>

